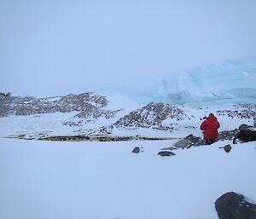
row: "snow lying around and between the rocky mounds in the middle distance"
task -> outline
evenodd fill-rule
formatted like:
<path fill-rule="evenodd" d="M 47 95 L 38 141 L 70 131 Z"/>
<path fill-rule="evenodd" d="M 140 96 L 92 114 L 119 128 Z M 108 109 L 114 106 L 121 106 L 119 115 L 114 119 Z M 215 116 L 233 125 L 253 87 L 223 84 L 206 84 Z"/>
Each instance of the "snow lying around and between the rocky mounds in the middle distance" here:
<path fill-rule="evenodd" d="M 121 97 L 120 97 L 121 99 Z M 116 100 L 116 99 L 114 99 Z M 125 100 L 125 99 L 124 99 Z M 122 101 L 120 101 L 122 102 Z M 115 101 L 110 101 L 109 108 L 118 109 Z M 114 118 L 86 118 L 86 121 L 81 120 L 80 118 L 74 118 L 78 112 L 55 112 L 55 113 L 45 113 L 45 114 L 36 114 L 29 116 L 9 116 L 0 118 L 0 136 L 6 137 L 11 135 L 26 135 L 26 137 L 38 137 L 39 134 L 46 135 L 79 135 L 86 134 L 89 130 L 97 130 L 102 126 L 108 126 L 115 123 L 119 118 L 125 116 L 126 113 L 131 112 L 132 110 L 137 109 L 137 104 L 129 101 L 125 101 L 121 105 L 122 111 L 118 112 Z M 200 124 L 202 122 L 201 118 L 207 116 L 210 112 L 213 112 L 220 123 L 219 131 L 223 130 L 235 130 L 241 124 L 253 125 L 253 118 L 231 118 L 228 115 L 219 115 L 218 111 L 230 110 L 243 110 L 244 108 L 234 106 L 233 104 L 225 104 L 218 107 L 204 107 L 204 108 L 193 108 L 188 106 L 178 106 L 183 109 L 183 111 L 188 115 L 188 118 L 184 120 L 177 121 L 177 118 L 167 118 L 163 121 L 162 124 L 172 127 L 172 124 L 175 125 L 175 130 L 163 131 L 155 130 L 153 128 L 137 128 L 134 130 L 122 129 L 122 128 L 113 128 L 111 130 L 112 135 L 142 135 L 142 136 L 160 136 L 160 137 L 181 137 L 184 138 L 189 134 L 197 135 L 201 137 Z M 78 122 L 79 120 L 83 121 L 81 126 L 69 126 L 64 125 L 65 122 Z M 90 120 L 88 122 L 87 120 Z M 129 128 L 129 127 L 128 127 Z"/>

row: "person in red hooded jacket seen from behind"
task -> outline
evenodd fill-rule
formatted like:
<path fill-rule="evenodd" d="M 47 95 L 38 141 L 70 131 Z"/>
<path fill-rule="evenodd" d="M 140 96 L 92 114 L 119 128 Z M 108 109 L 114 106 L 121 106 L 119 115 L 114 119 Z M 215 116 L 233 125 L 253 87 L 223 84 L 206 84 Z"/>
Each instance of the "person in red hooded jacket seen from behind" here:
<path fill-rule="evenodd" d="M 217 118 L 210 113 L 205 121 L 202 122 L 200 129 L 203 130 L 206 144 L 212 144 L 218 138 L 219 123 Z"/>

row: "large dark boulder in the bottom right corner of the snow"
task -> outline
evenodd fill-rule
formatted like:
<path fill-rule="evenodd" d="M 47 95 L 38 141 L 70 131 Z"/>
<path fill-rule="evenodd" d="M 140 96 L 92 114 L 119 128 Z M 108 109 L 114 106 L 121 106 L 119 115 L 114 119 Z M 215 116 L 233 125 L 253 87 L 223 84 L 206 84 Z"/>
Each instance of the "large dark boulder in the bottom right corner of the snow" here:
<path fill-rule="evenodd" d="M 256 205 L 247 202 L 238 193 L 224 193 L 215 202 L 220 219 L 256 219 Z"/>

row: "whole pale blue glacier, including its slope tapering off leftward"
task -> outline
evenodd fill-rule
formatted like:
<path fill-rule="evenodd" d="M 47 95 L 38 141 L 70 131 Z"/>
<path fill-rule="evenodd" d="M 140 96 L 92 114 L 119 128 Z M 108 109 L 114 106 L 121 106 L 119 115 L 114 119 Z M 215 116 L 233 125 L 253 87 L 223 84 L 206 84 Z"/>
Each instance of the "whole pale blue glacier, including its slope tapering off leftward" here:
<path fill-rule="evenodd" d="M 137 103 L 166 102 L 207 106 L 256 102 L 256 55 L 218 61 L 205 66 L 131 78 L 94 91 L 123 95 Z"/>

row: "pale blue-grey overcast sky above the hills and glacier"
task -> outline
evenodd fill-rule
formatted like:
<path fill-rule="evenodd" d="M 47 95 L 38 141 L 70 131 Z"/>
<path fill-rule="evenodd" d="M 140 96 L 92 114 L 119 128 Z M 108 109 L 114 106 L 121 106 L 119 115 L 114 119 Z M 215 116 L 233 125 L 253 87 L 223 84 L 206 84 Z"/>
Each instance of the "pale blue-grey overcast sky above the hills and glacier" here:
<path fill-rule="evenodd" d="M 0 0 L 0 92 L 61 95 L 256 53 L 255 0 Z"/>

